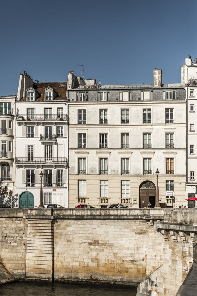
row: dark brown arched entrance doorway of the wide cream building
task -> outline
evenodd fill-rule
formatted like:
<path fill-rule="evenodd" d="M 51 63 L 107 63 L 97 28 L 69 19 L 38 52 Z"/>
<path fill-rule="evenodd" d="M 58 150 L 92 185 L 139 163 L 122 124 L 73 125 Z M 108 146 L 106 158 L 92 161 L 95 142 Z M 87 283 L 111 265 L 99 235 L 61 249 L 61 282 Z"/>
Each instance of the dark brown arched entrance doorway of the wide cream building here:
<path fill-rule="evenodd" d="M 155 205 L 156 187 L 151 181 L 144 181 L 139 186 L 140 207 L 147 207 L 148 202 Z"/>

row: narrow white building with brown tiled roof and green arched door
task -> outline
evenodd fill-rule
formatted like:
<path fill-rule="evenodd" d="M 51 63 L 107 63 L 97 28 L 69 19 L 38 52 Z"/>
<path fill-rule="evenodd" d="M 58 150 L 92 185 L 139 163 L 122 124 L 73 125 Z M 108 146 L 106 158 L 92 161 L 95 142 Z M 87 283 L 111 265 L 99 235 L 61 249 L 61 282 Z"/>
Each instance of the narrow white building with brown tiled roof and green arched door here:
<path fill-rule="evenodd" d="M 16 102 L 16 183 L 19 207 L 68 207 L 67 82 L 34 83 L 20 74 Z"/>

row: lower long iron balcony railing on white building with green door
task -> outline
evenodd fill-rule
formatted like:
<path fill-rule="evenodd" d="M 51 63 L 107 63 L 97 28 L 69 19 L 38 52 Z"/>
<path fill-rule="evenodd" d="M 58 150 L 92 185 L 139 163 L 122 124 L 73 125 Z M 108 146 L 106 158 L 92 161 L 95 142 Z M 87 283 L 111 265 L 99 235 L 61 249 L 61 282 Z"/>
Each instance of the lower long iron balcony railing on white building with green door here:
<path fill-rule="evenodd" d="M 35 163 L 35 164 L 67 164 L 67 157 L 16 157 L 15 163 Z"/>

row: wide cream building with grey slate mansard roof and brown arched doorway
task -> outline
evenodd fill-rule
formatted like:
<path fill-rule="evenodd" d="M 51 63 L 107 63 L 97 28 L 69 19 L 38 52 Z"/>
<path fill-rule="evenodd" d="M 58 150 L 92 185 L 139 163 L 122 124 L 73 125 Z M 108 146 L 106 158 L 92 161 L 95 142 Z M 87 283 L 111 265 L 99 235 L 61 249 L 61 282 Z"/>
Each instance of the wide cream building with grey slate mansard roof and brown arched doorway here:
<path fill-rule="evenodd" d="M 102 86 L 68 75 L 69 207 L 185 205 L 186 101 L 181 84 Z M 174 204 L 175 200 L 175 204 Z"/>

